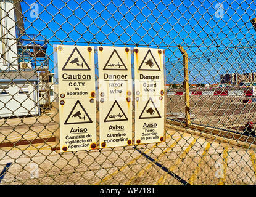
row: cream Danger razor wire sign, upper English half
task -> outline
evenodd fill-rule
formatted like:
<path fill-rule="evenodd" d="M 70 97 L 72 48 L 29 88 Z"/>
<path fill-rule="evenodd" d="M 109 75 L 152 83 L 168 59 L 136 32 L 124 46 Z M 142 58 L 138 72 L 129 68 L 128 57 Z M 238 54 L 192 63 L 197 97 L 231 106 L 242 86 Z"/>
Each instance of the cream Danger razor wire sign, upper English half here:
<path fill-rule="evenodd" d="M 98 62 L 100 94 L 125 100 L 132 90 L 130 48 L 98 47 Z"/>

